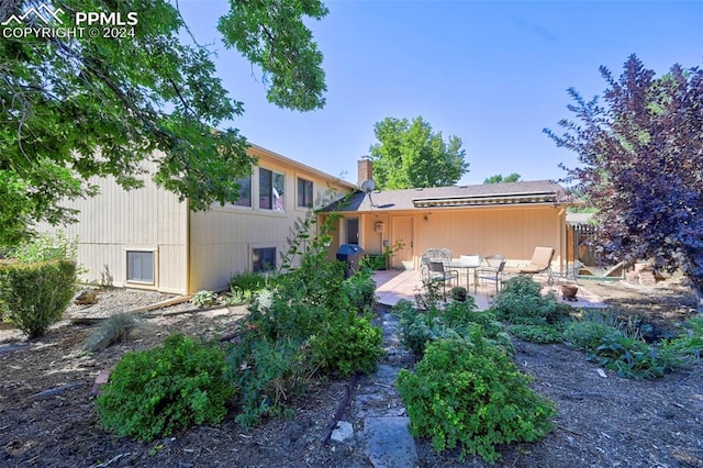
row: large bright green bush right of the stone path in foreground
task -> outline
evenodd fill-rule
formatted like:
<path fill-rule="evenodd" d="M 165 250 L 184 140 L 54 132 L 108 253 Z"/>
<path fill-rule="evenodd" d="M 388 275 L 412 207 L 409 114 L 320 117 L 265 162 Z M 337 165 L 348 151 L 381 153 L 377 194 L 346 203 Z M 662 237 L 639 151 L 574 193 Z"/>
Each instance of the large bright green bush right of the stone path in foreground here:
<path fill-rule="evenodd" d="M 468 339 L 428 344 L 415 370 L 401 370 L 395 386 L 414 436 L 429 437 L 437 452 L 459 446 L 460 459 L 470 454 L 495 461 L 498 445 L 536 441 L 551 428 L 555 404 L 529 381 L 475 328 Z"/>

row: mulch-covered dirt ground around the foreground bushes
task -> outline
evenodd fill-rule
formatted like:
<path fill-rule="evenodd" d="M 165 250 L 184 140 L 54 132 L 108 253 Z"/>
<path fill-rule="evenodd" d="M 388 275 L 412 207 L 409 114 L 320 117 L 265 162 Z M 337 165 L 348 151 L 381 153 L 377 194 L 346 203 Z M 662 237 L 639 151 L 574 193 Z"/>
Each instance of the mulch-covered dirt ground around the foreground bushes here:
<path fill-rule="evenodd" d="M 639 288 L 587 283 L 624 315 L 652 323 L 666 335 L 693 313 L 693 297 L 676 285 Z M 129 309 L 163 298 L 103 291 L 93 308 Z M 112 308 L 112 309 L 111 309 Z M 91 387 L 127 350 L 143 349 L 174 332 L 198 336 L 231 333 L 244 308 L 183 313 L 192 304 L 158 312 L 136 338 L 97 355 L 80 352 L 94 325 L 68 321 L 46 336 L 26 341 L 0 325 L 0 466 L 3 467 L 371 467 L 357 442 L 323 443 L 349 381 L 320 382 L 290 420 L 269 420 L 250 430 L 233 415 L 219 427 L 196 427 L 148 444 L 116 437 L 96 423 Z M 71 308 L 72 315 L 90 315 Z M 565 345 L 515 342 L 516 361 L 534 387 L 557 403 L 555 430 L 542 442 L 503 447 L 498 466 L 510 467 L 703 467 L 703 365 L 658 380 L 627 380 L 603 372 Z M 395 363 L 398 364 L 398 363 Z M 402 363 L 401 363 L 402 365 Z M 410 366 L 409 363 L 405 365 Z M 362 377 L 361 387 L 376 386 Z M 367 391 L 368 392 L 368 391 Z M 369 404 L 388 405 L 387 401 Z M 349 404 L 343 420 L 355 431 L 364 420 Z M 457 461 L 457 453 L 434 454 L 417 441 L 421 467 L 483 467 Z"/>

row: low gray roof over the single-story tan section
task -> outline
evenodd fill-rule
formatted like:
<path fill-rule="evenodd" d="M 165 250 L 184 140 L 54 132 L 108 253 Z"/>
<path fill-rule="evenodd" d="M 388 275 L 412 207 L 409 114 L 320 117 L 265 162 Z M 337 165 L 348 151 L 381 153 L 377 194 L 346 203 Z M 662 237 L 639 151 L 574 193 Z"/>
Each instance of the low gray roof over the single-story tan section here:
<path fill-rule="evenodd" d="M 378 212 L 412 211 L 427 208 L 557 204 L 563 202 L 562 193 L 563 188 L 554 180 L 375 190 L 371 193 L 357 191 L 343 205 L 334 203 L 323 211 Z"/>

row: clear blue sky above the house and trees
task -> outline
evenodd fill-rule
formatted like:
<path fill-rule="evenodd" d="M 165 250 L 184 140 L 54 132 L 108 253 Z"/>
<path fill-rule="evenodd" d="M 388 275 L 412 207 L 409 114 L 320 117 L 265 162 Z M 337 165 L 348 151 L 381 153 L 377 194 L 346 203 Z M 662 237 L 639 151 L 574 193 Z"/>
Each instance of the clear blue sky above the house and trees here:
<path fill-rule="evenodd" d="M 310 24 L 324 54 L 327 104 L 301 113 L 266 100 L 260 71 L 226 49 L 215 30 L 220 0 L 180 0 L 200 43 L 245 113 L 231 126 L 250 142 L 356 182 L 356 164 L 387 116 L 422 115 L 464 142 L 469 171 L 523 180 L 565 177 L 577 164 L 542 130 L 570 118 L 566 90 L 590 99 L 636 54 L 657 76 L 703 65 L 703 0 L 698 1 L 360 1 L 326 2 Z M 225 126 L 225 125 L 223 125 Z"/>

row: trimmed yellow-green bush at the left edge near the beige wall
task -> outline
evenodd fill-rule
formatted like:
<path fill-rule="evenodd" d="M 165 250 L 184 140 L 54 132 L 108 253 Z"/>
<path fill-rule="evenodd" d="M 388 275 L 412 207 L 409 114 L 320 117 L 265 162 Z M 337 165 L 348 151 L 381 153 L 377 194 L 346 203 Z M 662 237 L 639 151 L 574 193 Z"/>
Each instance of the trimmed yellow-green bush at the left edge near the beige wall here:
<path fill-rule="evenodd" d="M 0 303 L 4 320 L 30 338 L 58 322 L 74 297 L 76 264 L 52 260 L 0 264 Z"/>

